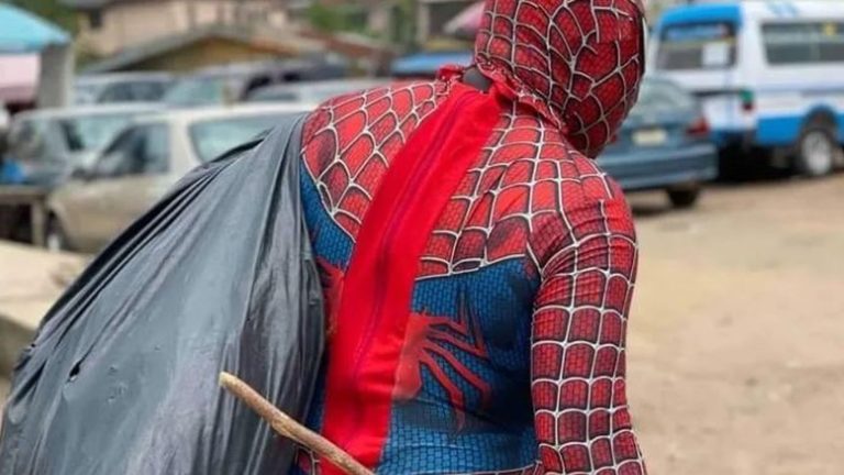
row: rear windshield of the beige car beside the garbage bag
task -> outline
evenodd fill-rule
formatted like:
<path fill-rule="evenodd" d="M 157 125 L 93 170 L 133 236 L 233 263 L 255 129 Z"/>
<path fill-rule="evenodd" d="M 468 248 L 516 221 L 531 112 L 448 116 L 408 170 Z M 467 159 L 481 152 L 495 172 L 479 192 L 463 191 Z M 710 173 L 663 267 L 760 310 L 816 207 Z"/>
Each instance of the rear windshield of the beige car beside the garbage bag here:
<path fill-rule="evenodd" d="M 230 150 L 273 129 L 282 113 L 197 122 L 190 126 L 193 150 L 202 162 L 211 162 Z"/>

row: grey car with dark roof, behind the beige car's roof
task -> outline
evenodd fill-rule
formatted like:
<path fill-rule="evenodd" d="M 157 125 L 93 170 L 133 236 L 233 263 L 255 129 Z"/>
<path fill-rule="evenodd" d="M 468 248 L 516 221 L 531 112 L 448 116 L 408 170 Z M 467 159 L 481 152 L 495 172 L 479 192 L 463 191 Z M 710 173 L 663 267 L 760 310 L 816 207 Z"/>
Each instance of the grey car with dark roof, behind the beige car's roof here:
<path fill-rule="evenodd" d="M 340 78 L 344 74 L 345 66 L 303 59 L 214 66 L 179 80 L 165 101 L 179 108 L 221 106 L 241 102 L 262 87 Z"/>

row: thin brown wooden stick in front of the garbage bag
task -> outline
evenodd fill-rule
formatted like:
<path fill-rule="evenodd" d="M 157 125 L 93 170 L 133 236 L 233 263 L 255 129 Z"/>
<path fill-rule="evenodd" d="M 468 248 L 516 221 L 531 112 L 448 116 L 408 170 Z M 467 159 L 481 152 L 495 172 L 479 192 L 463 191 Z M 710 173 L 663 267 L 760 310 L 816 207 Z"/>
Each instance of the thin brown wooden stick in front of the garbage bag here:
<path fill-rule="evenodd" d="M 293 420 L 290 416 L 281 412 L 273 406 L 267 399 L 260 396 L 255 389 L 246 383 L 229 373 L 220 373 L 220 386 L 232 393 L 238 399 L 251 407 L 279 434 L 298 442 L 312 450 L 320 456 L 331 461 L 332 464 L 342 468 L 349 475 L 374 475 L 368 468 L 354 460 L 349 454 L 343 452 L 327 439 L 309 430 Z"/>

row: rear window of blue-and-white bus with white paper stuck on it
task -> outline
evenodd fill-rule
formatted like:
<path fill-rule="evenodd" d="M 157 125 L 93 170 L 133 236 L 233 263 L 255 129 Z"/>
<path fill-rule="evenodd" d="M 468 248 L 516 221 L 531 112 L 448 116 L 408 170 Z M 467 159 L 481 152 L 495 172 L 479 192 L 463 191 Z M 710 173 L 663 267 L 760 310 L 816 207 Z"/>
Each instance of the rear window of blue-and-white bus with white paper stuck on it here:
<path fill-rule="evenodd" d="M 724 69 L 735 65 L 732 23 L 691 23 L 667 26 L 659 37 L 656 68 Z"/>

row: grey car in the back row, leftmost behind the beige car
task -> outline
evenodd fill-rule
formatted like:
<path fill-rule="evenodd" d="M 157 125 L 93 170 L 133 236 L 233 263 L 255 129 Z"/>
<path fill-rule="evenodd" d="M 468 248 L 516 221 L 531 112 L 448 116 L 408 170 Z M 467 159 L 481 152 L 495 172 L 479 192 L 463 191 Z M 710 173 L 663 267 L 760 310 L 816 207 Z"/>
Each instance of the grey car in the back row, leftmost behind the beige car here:
<path fill-rule="evenodd" d="M 77 104 L 157 102 L 174 77 L 167 73 L 114 73 L 80 76 L 74 86 Z"/>

